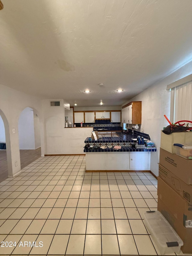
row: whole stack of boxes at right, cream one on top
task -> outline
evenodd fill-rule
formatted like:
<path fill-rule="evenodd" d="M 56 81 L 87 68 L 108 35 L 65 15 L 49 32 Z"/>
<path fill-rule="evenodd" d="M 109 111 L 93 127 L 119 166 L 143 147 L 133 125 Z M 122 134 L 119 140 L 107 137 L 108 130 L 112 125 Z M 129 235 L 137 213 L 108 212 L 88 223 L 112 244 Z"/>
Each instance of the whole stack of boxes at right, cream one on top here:
<path fill-rule="evenodd" d="M 192 160 L 175 154 L 173 143 L 192 143 L 192 132 L 161 134 L 158 211 L 183 240 L 183 253 L 192 253 Z"/>

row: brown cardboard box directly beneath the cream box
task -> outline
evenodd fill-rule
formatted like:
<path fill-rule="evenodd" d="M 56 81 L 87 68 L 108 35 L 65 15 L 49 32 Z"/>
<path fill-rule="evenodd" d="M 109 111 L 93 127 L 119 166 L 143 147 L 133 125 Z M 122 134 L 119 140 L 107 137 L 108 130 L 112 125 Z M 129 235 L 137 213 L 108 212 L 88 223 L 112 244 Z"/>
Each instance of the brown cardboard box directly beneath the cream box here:
<path fill-rule="evenodd" d="M 159 163 L 187 185 L 192 184 L 192 160 L 160 148 Z"/>

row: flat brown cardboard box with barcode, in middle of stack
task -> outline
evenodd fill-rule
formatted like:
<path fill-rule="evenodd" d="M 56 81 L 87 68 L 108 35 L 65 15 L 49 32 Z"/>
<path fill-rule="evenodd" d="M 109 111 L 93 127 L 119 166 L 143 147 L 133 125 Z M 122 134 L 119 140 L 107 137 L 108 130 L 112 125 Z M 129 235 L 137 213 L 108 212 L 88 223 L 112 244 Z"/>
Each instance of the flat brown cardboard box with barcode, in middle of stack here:
<path fill-rule="evenodd" d="M 161 164 L 159 164 L 159 177 L 173 188 L 186 202 L 192 203 L 192 185 L 187 185 Z"/>

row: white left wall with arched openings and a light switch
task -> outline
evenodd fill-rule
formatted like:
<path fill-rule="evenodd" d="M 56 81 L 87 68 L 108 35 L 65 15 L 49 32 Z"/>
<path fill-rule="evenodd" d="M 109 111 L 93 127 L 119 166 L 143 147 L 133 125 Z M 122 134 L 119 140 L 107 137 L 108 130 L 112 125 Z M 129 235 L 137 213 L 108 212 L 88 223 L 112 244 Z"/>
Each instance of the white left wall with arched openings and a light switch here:
<path fill-rule="evenodd" d="M 4 121 L 7 148 L 8 175 L 19 173 L 20 153 L 18 120 L 20 113 L 26 107 L 31 107 L 38 112 L 41 123 L 41 153 L 44 155 L 43 123 L 41 100 L 24 92 L 19 92 L 7 86 L 0 85 L 0 115 Z M 15 133 L 13 133 L 13 129 Z M 17 162 L 17 166 L 15 166 Z"/>

